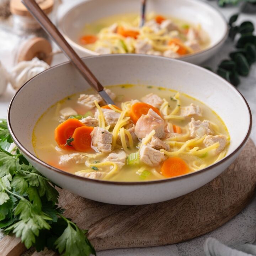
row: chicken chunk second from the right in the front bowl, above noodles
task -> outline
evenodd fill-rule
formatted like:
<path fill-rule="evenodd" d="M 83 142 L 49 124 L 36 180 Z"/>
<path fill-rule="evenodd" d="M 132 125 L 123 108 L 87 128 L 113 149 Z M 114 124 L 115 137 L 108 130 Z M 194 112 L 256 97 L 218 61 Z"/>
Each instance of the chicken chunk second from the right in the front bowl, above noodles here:
<path fill-rule="evenodd" d="M 204 120 L 203 122 L 200 120 L 195 121 L 192 117 L 191 122 L 188 123 L 188 129 L 190 130 L 190 137 L 203 137 L 203 135 L 212 134 L 212 130 L 210 129 L 210 121 Z"/>

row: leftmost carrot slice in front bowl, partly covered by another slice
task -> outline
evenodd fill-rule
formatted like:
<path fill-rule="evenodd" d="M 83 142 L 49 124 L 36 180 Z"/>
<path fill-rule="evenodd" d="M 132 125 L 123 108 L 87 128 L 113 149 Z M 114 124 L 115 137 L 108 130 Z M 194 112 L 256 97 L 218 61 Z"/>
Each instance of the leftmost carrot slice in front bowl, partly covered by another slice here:
<path fill-rule="evenodd" d="M 73 149 L 72 146 L 65 145 L 66 141 L 72 136 L 75 129 L 81 126 L 85 126 L 85 124 L 81 123 L 78 119 L 70 118 L 55 128 L 54 138 L 60 148 Z"/>

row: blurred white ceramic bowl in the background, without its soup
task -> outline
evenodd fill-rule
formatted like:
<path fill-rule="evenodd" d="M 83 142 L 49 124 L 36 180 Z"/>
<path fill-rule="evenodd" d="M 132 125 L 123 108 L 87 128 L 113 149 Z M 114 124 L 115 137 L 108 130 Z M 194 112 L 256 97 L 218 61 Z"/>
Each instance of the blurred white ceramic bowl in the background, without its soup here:
<path fill-rule="evenodd" d="M 60 19 L 59 29 L 81 57 L 99 55 L 78 43 L 79 35 L 85 24 L 111 15 L 139 12 L 140 2 L 139 0 L 87 0 L 70 9 Z M 210 45 L 201 52 L 180 57 L 194 64 L 200 64 L 217 53 L 228 34 L 225 18 L 218 10 L 204 1 L 148 0 L 147 11 L 201 24 L 209 34 Z"/>

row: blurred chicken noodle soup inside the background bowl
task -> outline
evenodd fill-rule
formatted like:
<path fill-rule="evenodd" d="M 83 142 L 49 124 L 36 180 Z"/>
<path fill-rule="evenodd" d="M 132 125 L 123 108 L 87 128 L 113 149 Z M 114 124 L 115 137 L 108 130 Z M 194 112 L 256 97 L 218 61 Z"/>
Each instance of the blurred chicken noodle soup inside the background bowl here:
<path fill-rule="evenodd" d="M 142 53 L 178 58 L 209 45 L 200 25 L 177 18 L 149 14 L 143 27 L 138 15 L 103 18 L 85 26 L 79 43 L 100 54 Z"/>

